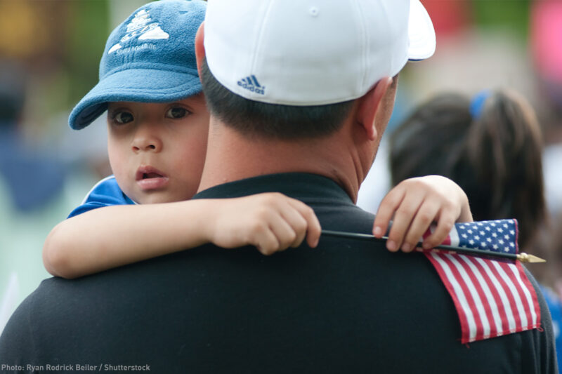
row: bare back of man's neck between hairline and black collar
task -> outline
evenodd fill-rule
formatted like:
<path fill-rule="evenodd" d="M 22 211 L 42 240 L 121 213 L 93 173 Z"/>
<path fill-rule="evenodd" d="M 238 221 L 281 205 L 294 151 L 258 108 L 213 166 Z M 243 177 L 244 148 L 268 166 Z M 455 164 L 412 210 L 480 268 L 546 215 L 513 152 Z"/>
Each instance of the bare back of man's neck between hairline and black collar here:
<path fill-rule="evenodd" d="M 226 182 L 275 173 L 323 175 L 357 199 L 364 173 L 358 158 L 337 136 L 303 142 L 251 139 L 211 119 L 207 159 L 199 190 Z"/>

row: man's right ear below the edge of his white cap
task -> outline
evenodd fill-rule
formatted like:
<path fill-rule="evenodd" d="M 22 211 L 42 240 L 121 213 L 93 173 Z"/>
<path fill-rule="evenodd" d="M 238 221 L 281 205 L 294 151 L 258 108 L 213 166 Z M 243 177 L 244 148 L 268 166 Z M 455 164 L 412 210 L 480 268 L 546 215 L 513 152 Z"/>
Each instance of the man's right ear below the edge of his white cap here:
<path fill-rule="evenodd" d="M 377 84 L 370 89 L 365 95 L 359 98 L 359 106 L 356 114 L 357 123 L 365 128 L 369 140 L 377 138 L 377 128 L 374 124 L 374 119 L 377 116 L 377 111 L 381 105 L 382 98 L 392 85 L 392 78 L 385 76 Z"/>

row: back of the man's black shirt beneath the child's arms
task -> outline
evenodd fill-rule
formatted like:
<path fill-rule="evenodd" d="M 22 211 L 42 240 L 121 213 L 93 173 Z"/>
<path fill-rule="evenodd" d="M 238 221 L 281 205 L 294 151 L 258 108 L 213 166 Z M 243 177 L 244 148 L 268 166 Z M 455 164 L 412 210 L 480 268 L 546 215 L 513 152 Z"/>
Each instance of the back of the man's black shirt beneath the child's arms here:
<path fill-rule="evenodd" d="M 267 191 L 311 205 L 323 229 L 372 227 L 372 215 L 318 175 L 251 178 L 197 197 Z M 424 255 L 328 238 L 270 257 L 202 246 L 44 281 L 8 323 L 0 356 L 10 365 L 148 365 L 162 373 L 556 373 L 537 294 L 542 330 L 462 345 L 453 302 Z"/>

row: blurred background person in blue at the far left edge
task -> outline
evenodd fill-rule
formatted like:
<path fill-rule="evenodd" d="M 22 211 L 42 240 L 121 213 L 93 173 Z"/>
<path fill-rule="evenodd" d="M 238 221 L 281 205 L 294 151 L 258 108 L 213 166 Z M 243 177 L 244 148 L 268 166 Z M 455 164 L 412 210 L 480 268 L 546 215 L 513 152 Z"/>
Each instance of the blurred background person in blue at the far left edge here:
<path fill-rule="evenodd" d="M 27 72 L 0 60 L 0 331 L 27 292 L 48 274 L 37 265 L 41 237 L 63 201 L 66 168 L 23 132 Z M 47 230 L 47 231 L 45 231 Z"/>

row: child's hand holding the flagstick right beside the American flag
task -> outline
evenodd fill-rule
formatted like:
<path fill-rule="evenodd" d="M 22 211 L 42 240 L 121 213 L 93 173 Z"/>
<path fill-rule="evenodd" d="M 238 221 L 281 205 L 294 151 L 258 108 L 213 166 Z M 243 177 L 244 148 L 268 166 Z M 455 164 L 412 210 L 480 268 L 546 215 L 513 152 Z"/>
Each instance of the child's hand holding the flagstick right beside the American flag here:
<path fill-rule="evenodd" d="M 469 200 L 452 180 L 440 175 L 428 175 L 403 180 L 381 201 L 374 220 L 373 234 L 380 238 L 388 233 L 388 251 L 412 251 L 432 222 L 437 222 L 433 234 L 424 239 L 424 249 L 443 243 L 455 222 L 472 222 Z"/>

